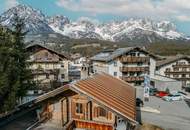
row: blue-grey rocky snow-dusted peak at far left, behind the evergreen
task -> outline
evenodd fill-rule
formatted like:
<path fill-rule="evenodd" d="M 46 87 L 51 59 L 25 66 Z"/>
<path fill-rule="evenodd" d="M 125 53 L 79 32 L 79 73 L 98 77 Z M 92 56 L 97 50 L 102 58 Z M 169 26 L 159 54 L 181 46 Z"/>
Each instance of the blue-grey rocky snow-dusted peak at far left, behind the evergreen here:
<path fill-rule="evenodd" d="M 24 20 L 26 31 L 29 31 L 29 34 L 54 32 L 41 11 L 26 5 L 18 5 L 4 12 L 0 16 L 0 24 L 11 27 L 15 14 Z"/>

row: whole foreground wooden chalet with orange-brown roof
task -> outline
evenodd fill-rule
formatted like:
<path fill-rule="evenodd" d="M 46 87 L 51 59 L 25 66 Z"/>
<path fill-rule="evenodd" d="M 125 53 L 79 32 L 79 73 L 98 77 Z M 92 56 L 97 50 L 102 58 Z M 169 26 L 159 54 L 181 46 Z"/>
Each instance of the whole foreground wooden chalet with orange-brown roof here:
<path fill-rule="evenodd" d="M 128 83 L 102 74 L 57 88 L 34 102 L 45 101 L 38 111 L 39 120 L 48 119 L 56 128 L 114 130 L 119 117 L 126 130 L 134 130 L 135 93 Z"/>

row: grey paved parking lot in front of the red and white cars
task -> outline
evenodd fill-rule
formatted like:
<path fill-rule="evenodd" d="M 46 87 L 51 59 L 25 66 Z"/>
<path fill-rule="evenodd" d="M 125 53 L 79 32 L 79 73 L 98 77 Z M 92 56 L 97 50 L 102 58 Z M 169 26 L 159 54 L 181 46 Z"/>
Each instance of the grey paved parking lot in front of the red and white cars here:
<path fill-rule="evenodd" d="M 143 98 L 142 90 L 138 90 L 137 97 Z M 144 107 L 150 107 L 160 113 L 141 111 L 142 122 L 155 124 L 165 130 L 190 129 L 190 100 L 166 102 L 151 96 L 149 102 L 144 102 Z"/>

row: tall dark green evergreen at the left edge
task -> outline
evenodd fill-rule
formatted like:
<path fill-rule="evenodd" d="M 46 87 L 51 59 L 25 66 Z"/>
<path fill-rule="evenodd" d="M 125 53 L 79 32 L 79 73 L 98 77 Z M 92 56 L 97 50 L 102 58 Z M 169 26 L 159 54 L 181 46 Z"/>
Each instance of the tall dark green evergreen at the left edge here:
<path fill-rule="evenodd" d="M 23 30 L 24 23 L 17 15 L 13 30 L 0 29 L 0 113 L 14 109 L 33 85 Z"/>

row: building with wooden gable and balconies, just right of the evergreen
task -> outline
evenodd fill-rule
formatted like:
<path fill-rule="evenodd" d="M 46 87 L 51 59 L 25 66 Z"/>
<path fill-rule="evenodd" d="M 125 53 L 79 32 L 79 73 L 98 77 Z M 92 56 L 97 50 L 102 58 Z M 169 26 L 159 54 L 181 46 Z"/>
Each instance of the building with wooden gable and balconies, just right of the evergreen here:
<path fill-rule="evenodd" d="M 56 88 L 69 81 L 66 56 L 39 44 L 28 46 L 27 51 L 30 53 L 29 69 L 40 89 Z"/>

